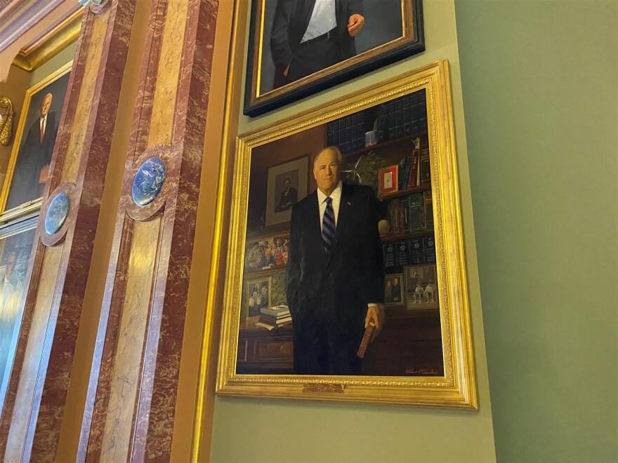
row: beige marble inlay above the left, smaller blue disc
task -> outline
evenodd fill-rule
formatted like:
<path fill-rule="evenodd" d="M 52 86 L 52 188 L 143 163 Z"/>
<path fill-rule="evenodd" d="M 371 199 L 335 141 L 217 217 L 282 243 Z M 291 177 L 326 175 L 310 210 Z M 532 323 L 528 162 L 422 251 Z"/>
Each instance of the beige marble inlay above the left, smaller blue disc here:
<path fill-rule="evenodd" d="M 107 16 L 110 15 L 110 8 L 101 14 L 103 18 L 91 22 L 92 32 L 90 36 L 90 48 L 86 58 L 84 79 L 79 90 L 79 100 L 75 111 L 75 119 L 71 127 L 71 137 L 67 147 L 67 156 L 61 175 L 63 182 L 77 181 L 77 170 L 79 170 L 79 159 L 81 150 L 84 147 L 86 133 L 88 133 L 88 115 L 90 114 L 95 86 L 98 81 L 97 74 L 107 33 Z M 111 130 L 111 128 L 110 128 Z"/>

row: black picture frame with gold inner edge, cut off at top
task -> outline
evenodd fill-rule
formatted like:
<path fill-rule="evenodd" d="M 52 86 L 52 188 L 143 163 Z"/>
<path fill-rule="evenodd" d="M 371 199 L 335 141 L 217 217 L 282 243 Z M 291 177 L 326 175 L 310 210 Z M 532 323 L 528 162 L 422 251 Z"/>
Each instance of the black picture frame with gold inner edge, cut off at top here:
<path fill-rule="evenodd" d="M 246 116 L 254 117 L 270 112 L 272 109 L 288 105 L 339 83 L 355 79 L 380 67 L 425 51 L 423 2 L 422 0 L 401 0 L 404 26 L 402 26 L 402 36 L 399 39 L 382 46 L 376 46 L 352 58 L 338 62 L 336 65 L 322 69 L 320 72 L 310 74 L 303 79 L 260 95 L 258 73 L 261 72 L 261 69 L 257 63 L 262 58 L 258 54 L 263 49 L 261 47 L 263 24 L 258 23 L 257 19 L 263 18 L 263 8 L 265 8 L 267 1 L 275 0 L 251 1 L 243 111 Z"/>

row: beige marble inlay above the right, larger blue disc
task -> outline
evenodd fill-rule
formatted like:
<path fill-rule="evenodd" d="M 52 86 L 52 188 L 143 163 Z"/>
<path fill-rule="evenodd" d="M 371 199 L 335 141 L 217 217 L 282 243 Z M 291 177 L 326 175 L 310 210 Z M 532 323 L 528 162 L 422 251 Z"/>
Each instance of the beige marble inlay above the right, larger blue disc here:
<path fill-rule="evenodd" d="M 176 109 L 176 93 L 180 81 L 180 60 L 183 55 L 188 1 L 171 1 L 167 8 L 163 45 L 157 73 L 157 89 L 152 101 L 152 119 L 148 133 L 148 146 L 171 144 L 173 115 Z"/>

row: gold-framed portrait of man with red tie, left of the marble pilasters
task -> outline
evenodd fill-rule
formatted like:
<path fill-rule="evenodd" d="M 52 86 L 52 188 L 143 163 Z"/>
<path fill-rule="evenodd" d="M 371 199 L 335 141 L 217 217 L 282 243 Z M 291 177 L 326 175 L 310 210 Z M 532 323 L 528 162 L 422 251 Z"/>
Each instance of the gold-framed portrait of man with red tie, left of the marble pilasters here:
<path fill-rule="evenodd" d="M 26 90 L 0 194 L 0 213 L 43 196 L 71 67 L 69 62 Z"/>

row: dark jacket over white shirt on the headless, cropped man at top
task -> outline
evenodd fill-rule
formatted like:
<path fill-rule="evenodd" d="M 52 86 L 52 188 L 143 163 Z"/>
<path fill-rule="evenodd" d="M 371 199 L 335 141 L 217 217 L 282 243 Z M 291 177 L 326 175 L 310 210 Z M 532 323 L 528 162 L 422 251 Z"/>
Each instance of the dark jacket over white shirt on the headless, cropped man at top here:
<path fill-rule="evenodd" d="M 337 38 L 343 60 L 356 54 L 354 38 L 348 34 L 348 18 L 355 13 L 362 15 L 362 0 L 336 0 Z M 275 75 L 294 58 L 294 51 L 300 45 L 309 25 L 315 0 L 279 0 L 275 8 L 270 32 L 270 50 L 275 62 Z"/>

